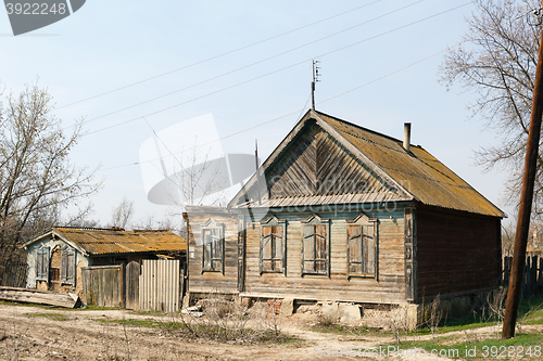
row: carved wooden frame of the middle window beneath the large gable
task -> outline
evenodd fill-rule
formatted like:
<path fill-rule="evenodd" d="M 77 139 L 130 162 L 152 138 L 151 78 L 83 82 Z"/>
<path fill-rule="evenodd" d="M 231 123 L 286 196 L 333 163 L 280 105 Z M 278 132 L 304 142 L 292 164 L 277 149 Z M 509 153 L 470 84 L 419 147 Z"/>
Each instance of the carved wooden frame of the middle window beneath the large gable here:
<path fill-rule="evenodd" d="M 323 219 L 317 215 L 311 215 L 306 219 L 301 220 L 302 223 L 302 276 L 304 274 L 317 274 L 317 275 L 327 275 L 330 278 L 330 221 L 328 219 Z M 324 227 L 325 230 L 325 240 L 324 244 L 326 246 L 325 257 L 318 258 L 316 257 L 315 246 L 317 245 L 318 237 L 323 237 L 323 235 L 318 234 L 317 228 Z M 306 258 L 305 254 L 305 243 L 313 243 L 313 258 Z M 317 270 L 317 262 L 325 262 L 323 270 Z M 313 262 L 313 268 L 308 269 L 305 263 Z"/>

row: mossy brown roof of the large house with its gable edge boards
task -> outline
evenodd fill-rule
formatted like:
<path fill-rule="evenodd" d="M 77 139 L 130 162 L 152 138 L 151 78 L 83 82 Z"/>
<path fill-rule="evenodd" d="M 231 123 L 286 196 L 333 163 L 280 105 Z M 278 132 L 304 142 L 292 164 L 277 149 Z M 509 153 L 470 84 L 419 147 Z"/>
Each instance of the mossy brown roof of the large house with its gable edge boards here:
<path fill-rule="evenodd" d="M 280 207 L 292 204 L 315 204 L 316 199 L 325 203 L 352 204 L 389 201 L 418 201 L 422 204 L 449 209 L 463 210 L 493 217 L 505 214 L 493 205 L 471 185 L 438 160 L 419 145 L 411 145 L 411 152 L 403 147 L 401 140 L 356 126 L 349 121 L 310 109 L 287 138 L 263 163 L 262 170 L 270 169 L 280 162 L 287 150 L 296 142 L 300 132 L 307 129 L 306 124 L 315 124 L 333 138 L 357 160 L 390 186 L 386 194 L 333 194 L 325 197 L 315 195 L 291 196 L 266 199 L 266 206 Z M 267 178 L 266 173 L 266 178 Z M 253 176 L 244 190 L 251 190 L 256 183 Z M 255 202 L 247 203 L 241 190 L 230 202 L 230 207 L 257 207 Z"/>

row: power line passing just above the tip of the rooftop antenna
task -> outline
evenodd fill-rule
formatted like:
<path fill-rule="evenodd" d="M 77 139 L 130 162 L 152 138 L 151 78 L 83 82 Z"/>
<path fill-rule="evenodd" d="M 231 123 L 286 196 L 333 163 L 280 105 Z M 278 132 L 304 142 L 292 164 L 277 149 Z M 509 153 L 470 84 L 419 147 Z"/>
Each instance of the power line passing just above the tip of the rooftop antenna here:
<path fill-rule="evenodd" d="M 282 68 L 279 68 L 279 69 L 276 69 L 276 70 L 273 70 L 273 72 L 269 72 L 269 73 L 266 73 L 266 74 L 263 74 L 263 75 L 260 75 L 257 77 L 254 77 L 254 78 L 251 78 L 251 79 L 248 79 L 248 80 L 244 80 L 244 81 L 241 81 L 241 82 L 238 82 L 238 83 L 235 83 L 232 86 L 228 86 L 226 88 L 222 88 L 222 89 L 218 89 L 216 91 L 213 91 L 213 92 L 210 92 L 210 93 L 206 93 L 206 94 L 203 94 L 203 95 L 200 95 L 200 96 L 197 96 L 197 98 L 193 98 L 193 99 L 190 99 L 190 100 L 187 100 L 185 102 L 181 102 L 181 103 L 177 103 L 177 104 L 174 104 L 174 105 L 171 105 L 171 106 L 167 106 L 167 107 L 164 107 L 164 108 L 161 108 L 161 109 L 157 109 L 155 112 L 151 112 L 151 113 L 148 113 L 143 116 L 139 116 L 139 117 L 136 117 L 136 118 L 131 118 L 131 119 L 128 119 L 128 120 L 125 120 L 125 121 L 121 121 L 121 123 L 117 123 L 117 124 L 114 124 L 114 125 L 111 125 L 111 126 L 108 126 L 108 127 L 104 127 L 104 128 L 100 128 L 100 129 L 97 129 L 94 131 L 90 131 L 90 132 L 87 132 L 85 134 L 83 134 L 81 137 L 86 137 L 86 136 L 90 136 L 90 134 L 93 134 L 93 133 L 97 133 L 97 132 L 100 132 L 100 131 L 104 131 L 104 130 L 108 130 L 108 129 L 112 129 L 112 128 L 115 128 L 115 127 L 118 127 L 118 126 L 122 126 L 122 125 L 125 125 L 125 124 L 128 124 L 128 123 L 132 123 L 132 121 L 136 121 L 142 117 L 149 117 L 149 116 L 152 116 L 152 115 L 156 115 L 156 114 L 160 114 L 160 113 L 163 113 L 163 112 L 166 112 L 166 111 L 169 111 L 172 108 L 175 108 L 175 107 L 178 107 L 178 106 L 181 106 L 181 105 L 185 105 L 185 104 L 188 104 L 188 103 L 191 103 L 191 102 L 194 102 L 197 100 L 200 100 L 200 99 L 203 99 L 203 98 L 207 98 L 207 96 L 211 96 L 213 94 L 216 94 L 216 93 L 219 93 L 219 92 L 223 92 L 223 91 L 226 91 L 226 90 L 229 90 L 229 89 L 232 89 L 232 88 L 237 88 L 239 86 L 242 86 L 244 83 L 248 83 L 248 82 L 252 82 L 252 81 L 255 81 L 257 79 L 261 79 L 261 78 L 264 78 L 264 77 L 267 77 L 269 75 L 273 75 L 273 74 L 276 74 L 276 73 L 279 73 L 279 72 L 282 72 L 282 70 L 286 70 L 286 69 L 289 69 L 291 67 L 294 67 L 294 66 L 298 66 L 298 65 L 301 65 L 301 64 L 304 64 L 315 57 L 321 57 L 321 56 L 326 56 L 326 55 L 329 55 L 329 54 L 332 54 L 334 52 L 338 52 L 338 51 L 341 51 L 341 50 L 345 50 L 348 48 L 351 48 L 351 47 L 354 47 L 354 46 L 357 46 L 362 42 L 366 42 L 366 41 L 369 41 L 369 40 L 372 40 L 372 39 L 376 39 L 376 38 L 379 38 L 379 37 L 382 37 L 384 35 L 388 35 L 388 34 L 391 34 L 391 33 L 394 33 L 394 31 L 397 31 L 397 30 L 401 30 L 403 28 L 406 28 L 406 27 L 409 27 L 409 26 L 413 26 L 413 25 L 416 25 L 418 23 L 421 23 L 421 22 L 425 22 L 427 20 L 430 20 L 430 18 L 433 18 L 433 17 L 437 17 L 439 15 L 443 15 L 445 13 L 449 13 L 451 11 L 454 11 L 454 10 L 457 10 L 459 8 L 463 8 L 463 7 L 466 7 L 468 4 L 472 3 L 472 1 L 469 1 L 469 2 L 466 2 L 462 5 L 458 5 L 458 7 L 454 7 L 454 8 L 451 8 L 449 10 L 445 10 L 445 11 L 442 11 L 440 13 L 437 13 L 437 14 L 433 14 L 433 15 L 430 15 L 430 16 L 427 16 L 427 17 L 424 17 L 424 18 L 420 18 L 418 21 L 415 21 L 415 22 L 412 22 L 412 23 L 408 23 L 408 24 L 405 24 L 405 25 L 402 25 L 400 27 L 396 27 L 394 29 L 391 29 L 391 30 L 388 30 L 388 31 L 384 31 L 384 33 L 381 33 L 381 34 L 378 34 L 378 35 L 375 35 L 372 37 L 369 37 L 369 38 L 366 38 L 366 39 L 363 39 L 363 40 L 359 40 L 359 41 L 356 41 L 356 42 L 353 42 L 351 44 L 348 44 L 348 46 L 344 46 L 344 47 L 341 47 L 341 48 L 338 48 L 338 49 L 334 49 L 334 50 L 331 50 L 331 51 L 328 51 L 328 52 L 325 52 L 320 55 L 317 55 L 317 56 L 312 56 L 312 57 L 308 57 L 308 59 L 305 59 L 301 62 L 298 62 L 298 63 L 294 63 L 294 64 L 291 64 L 291 65 L 288 65 L 288 66 L 285 66 Z"/>

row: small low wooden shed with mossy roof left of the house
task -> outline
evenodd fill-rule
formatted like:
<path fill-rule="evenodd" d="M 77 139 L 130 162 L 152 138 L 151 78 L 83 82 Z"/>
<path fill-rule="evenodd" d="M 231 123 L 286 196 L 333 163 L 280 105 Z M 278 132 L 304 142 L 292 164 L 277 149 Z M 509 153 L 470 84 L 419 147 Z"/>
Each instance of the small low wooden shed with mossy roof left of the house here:
<path fill-rule="evenodd" d="M 171 256 L 185 259 L 185 238 L 168 231 L 55 227 L 26 242 L 27 288 L 75 293 L 81 299 L 81 270 Z"/>

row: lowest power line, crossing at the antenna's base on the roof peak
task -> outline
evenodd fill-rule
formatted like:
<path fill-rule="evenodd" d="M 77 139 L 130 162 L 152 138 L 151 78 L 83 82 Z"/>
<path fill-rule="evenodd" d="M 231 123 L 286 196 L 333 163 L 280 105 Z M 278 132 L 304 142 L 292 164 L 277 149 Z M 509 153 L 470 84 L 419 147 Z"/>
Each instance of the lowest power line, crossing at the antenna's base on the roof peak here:
<path fill-rule="evenodd" d="M 394 72 L 390 72 L 390 73 L 388 73 L 388 74 L 386 74 L 386 75 L 383 75 L 383 76 L 381 76 L 381 77 L 379 77 L 379 78 L 376 78 L 376 79 L 374 79 L 374 80 L 371 80 L 371 81 L 365 82 L 365 83 L 363 83 L 363 85 L 361 85 L 361 86 L 357 86 L 357 87 L 355 87 L 355 88 L 352 88 L 352 89 L 349 89 L 349 90 L 346 90 L 346 91 L 343 91 L 343 92 L 341 92 L 341 93 L 339 93 L 339 94 L 337 94 L 337 95 L 330 96 L 330 98 L 328 98 L 328 99 L 326 99 L 326 100 L 324 100 L 324 101 L 317 102 L 317 104 L 323 104 L 323 103 L 326 103 L 326 102 L 331 101 L 331 100 L 333 100 L 333 99 L 336 99 L 336 98 L 339 98 L 339 96 L 342 96 L 342 95 L 344 95 L 344 94 L 348 94 L 348 93 L 350 93 L 350 92 L 352 92 L 352 91 L 355 91 L 355 90 L 358 90 L 358 89 L 361 89 L 361 88 L 367 87 L 367 86 L 369 86 L 369 85 L 371 85 L 371 83 L 374 83 L 374 82 L 377 82 L 377 81 L 382 80 L 382 79 L 384 79 L 384 78 L 387 78 L 387 77 L 390 77 L 390 76 L 392 76 L 392 75 L 394 75 L 394 74 L 396 74 L 396 73 L 400 73 L 400 72 L 402 72 L 402 70 L 405 70 L 405 69 L 407 69 L 407 68 L 409 68 L 409 67 L 412 67 L 412 66 L 415 66 L 415 65 L 417 65 L 417 64 L 419 64 L 419 63 L 422 63 L 422 62 L 425 62 L 425 61 L 427 61 L 427 60 L 429 60 L 429 59 L 432 59 L 432 57 L 434 57 L 434 56 L 438 56 L 439 54 L 442 54 L 442 53 L 444 53 L 445 51 L 447 51 L 447 50 L 450 50 L 450 49 L 452 49 L 452 48 L 456 48 L 456 47 L 460 46 L 462 43 L 464 43 L 464 42 L 466 42 L 466 41 L 469 41 L 469 40 L 470 40 L 470 39 L 463 40 L 463 41 L 460 41 L 460 42 L 458 42 L 458 43 L 456 43 L 456 44 L 454 44 L 454 46 L 447 47 L 447 48 L 445 48 L 445 49 L 443 49 L 443 50 L 441 50 L 441 51 L 439 51 L 439 52 L 437 52 L 437 53 L 433 53 L 433 54 L 431 54 L 431 55 L 428 55 L 428 56 L 426 56 L 426 57 L 422 57 L 422 59 L 420 59 L 420 60 L 418 60 L 418 61 L 416 61 L 416 62 L 414 62 L 414 63 L 411 63 L 411 64 L 408 64 L 408 65 L 406 65 L 406 66 L 404 66 L 404 67 L 401 67 L 401 68 L 399 68 L 399 69 L 396 69 L 396 70 L 394 70 Z M 308 102 L 308 99 L 307 99 L 307 102 Z M 305 105 L 307 105 L 307 102 L 305 103 Z M 288 113 L 288 114 L 285 114 L 285 115 L 281 115 L 281 116 L 277 117 L 277 118 L 273 118 L 273 119 L 270 119 L 270 120 L 266 120 L 266 121 L 260 123 L 260 124 L 254 125 L 254 126 L 252 126 L 252 127 L 241 129 L 241 130 L 239 130 L 239 131 L 236 131 L 236 132 L 233 132 L 233 133 L 230 133 L 230 134 L 228 134 L 228 136 L 225 136 L 225 137 L 223 137 L 223 138 L 219 138 L 219 139 L 214 140 L 214 141 L 212 141 L 212 142 L 207 142 L 207 143 L 201 144 L 201 145 L 199 145 L 199 146 L 197 146 L 197 147 L 188 149 L 188 150 L 186 150 L 186 151 L 195 151 L 198 147 L 205 146 L 205 145 L 210 145 L 210 144 L 212 144 L 212 143 L 219 142 L 219 141 L 225 140 L 225 139 L 228 139 L 228 138 L 232 138 L 232 137 L 235 137 L 235 136 L 241 134 L 241 133 L 247 132 L 247 131 L 249 131 L 249 130 L 253 130 L 253 129 L 255 129 L 255 128 L 260 128 L 260 127 L 265 126 L 265 125 L 267 125 L 267 124 L 270 124 L 270 123 L 274 123 L 274 121 L 280 120 L 280 119 L 282 119 L 282 118 L 289 117 L 289 116 L 291 116 L 291 115 L 293 115 L 293 114 L 296 114 L 298 112 L 301 112 L 301 114 L 302 114 L 305 109 L 306 109 L 306 108 L 305 108 L 305 106 L 304 106 L 304 108 L 302 108 L 302 109 L 296 109 L 296 111 L 290 112 L 290 113 Z M 299 116 L 299 118 L 301 118 L 301 115 Z M 174 154 L 179 154 L 179 153 L 182 153 L 182 152 L 186 152 L 186 151 L 181 151 L 181 152 L 177 152 L 177 153 L 171 153 L 171 154 L 172 154 L 172 156 L 175 156 Z M 169 156 L 165 156 L 165 157 L 169 157 Z M 113 167 L 104 168 L 104 169 L 101 169 L 101 170 L 104 170 L 104 171 L 105 171 L 105 170 L 112 170 L 112 169 L 117 169 L 117 168 L 125 168 L 125 167 L 129 167 L 129 166 L 136 166 L 136 165 L 140 165 L 140 164 L 144 164 L 144 163 L 150 163 L 150 162 L 160 160 L 160 159 L 162 159 L 162 158 L 164 158 L 164 157 L 157 157 L 157 158 L 154 158 L 154 159 L 149 159 L 149 160 L 141 162 L 141 163 L 140 163 L 140 162 L 135 162 L 135 163 L 124 164 L 124 165 L 119 165 L 119 166 L 113 166 Z"/>

